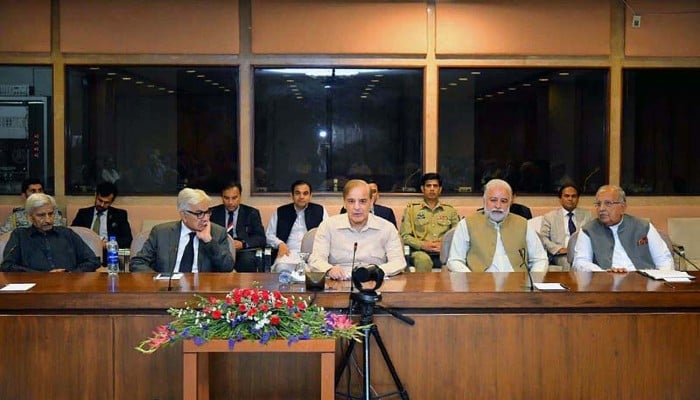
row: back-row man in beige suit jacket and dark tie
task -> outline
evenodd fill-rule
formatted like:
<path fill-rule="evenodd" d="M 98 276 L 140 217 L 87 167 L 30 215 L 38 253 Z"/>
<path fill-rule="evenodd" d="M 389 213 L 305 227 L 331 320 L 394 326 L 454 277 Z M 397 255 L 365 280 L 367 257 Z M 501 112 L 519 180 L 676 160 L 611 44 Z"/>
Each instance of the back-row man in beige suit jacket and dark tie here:
<path fill-rule="evenodd" d="M 551 257 L 550 264 L 560 265 L 564 271 L 571 268 L 567 260 L 569 238 L 574 232 L 593 217 L 591 212 L 578 208 L 579 191 L 573 183 L 564 184 L 559 189 L 561 208 L 552 210 L 542 217 L 540 239 Z"/>

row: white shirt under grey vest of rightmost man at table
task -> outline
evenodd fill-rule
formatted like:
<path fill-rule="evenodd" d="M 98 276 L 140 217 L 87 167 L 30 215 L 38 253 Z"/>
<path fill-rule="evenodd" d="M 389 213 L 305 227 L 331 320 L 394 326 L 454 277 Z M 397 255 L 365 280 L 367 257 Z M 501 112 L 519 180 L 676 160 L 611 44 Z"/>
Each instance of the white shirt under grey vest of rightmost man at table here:
<path fill-rule="evenodd" d="M 623 217 L 624 218 L 624 217 Z M 625 268 L 628 271 L 635 271 L 636 268 L 632 264 L 625 248 L 620 243 L 620 238 L 617 236 L 617 229 L 620 227 L 622 220 L 617 225 L 610 226 L 615 245 L 613 247 L 612 265 L 619 268 Z M 668 250 L 666 242 L 661 238 L 659 232 L 654 228 L 654 225 L 649 224 L 649 232 L 647 232 L 649 240 L 649 252 L 651 259 L 654 261 L 656 269 L 673 269 L 673 256 Z M 574 248 L 573 267 L 576 271 L 604 271 L 600 266 L 593 263 L 593 247 L 591 246 L 591 238 L 584 231 L 579 231 L 576 239 L 576 247 Z"/>

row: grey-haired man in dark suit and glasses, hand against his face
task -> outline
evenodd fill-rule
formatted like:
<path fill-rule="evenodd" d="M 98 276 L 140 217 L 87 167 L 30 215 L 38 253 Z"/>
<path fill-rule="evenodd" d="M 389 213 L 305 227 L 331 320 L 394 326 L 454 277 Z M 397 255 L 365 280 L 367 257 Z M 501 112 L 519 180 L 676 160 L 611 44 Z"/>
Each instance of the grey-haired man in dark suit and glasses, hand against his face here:
<path fill-rule="evenodd" d="M 233 257 L 226 231 L 209 221 L 211 199 L 204 191 L 185 188 L 177 195 L 180 221 L 151 229 L 133 272 L 231 272 Z"/>

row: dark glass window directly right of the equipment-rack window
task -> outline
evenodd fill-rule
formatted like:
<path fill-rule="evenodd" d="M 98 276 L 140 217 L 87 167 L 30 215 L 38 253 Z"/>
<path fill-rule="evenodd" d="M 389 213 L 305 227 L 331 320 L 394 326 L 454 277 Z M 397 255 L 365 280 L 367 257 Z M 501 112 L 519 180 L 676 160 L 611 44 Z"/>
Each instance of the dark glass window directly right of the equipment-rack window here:
<path fill-rule="evenodd" d="M 66 192 L 218 192 L 239 179 L 238 69 L 66 67 Z"/>

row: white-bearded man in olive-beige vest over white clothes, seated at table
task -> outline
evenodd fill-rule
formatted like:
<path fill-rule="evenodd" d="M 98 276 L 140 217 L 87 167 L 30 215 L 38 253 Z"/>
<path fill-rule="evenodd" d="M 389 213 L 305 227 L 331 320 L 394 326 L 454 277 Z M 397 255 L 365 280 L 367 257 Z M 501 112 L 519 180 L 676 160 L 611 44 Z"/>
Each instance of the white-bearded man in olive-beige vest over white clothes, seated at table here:
<path fill-rule="evenodd" d="M 457 272 L 547 271 L 547 254 L 527 220 L 509 213 L 513 192 L 501 179 L 484 186 L 484 211 L 461 220 L 447 266 Z"/>

